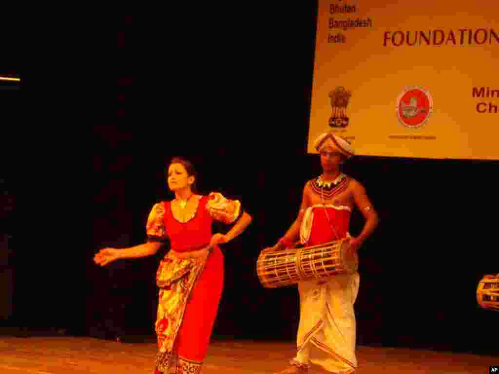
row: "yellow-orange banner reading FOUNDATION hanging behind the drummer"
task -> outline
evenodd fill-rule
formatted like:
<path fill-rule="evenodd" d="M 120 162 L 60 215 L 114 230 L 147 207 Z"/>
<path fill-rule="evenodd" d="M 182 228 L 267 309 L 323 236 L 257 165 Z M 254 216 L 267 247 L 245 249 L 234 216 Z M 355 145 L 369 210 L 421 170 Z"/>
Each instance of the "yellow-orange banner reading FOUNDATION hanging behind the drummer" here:
<path fill-rule="evenodd" d="M 499 1 L 319 0 L 308 153 L 499 159 Z"/>

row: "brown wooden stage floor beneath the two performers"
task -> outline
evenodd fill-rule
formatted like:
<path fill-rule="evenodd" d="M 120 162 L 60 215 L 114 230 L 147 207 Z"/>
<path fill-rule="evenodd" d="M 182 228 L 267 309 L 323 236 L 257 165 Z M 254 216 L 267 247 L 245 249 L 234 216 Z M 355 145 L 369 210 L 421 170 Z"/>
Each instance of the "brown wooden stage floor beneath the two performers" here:
<path fill-rule="evenodd" d="M 80 337 L 0 337 L 1 374 L 153 373 L 154 343 Z M 203 374 L 271 374 L 294 354 L 292 343 L 214 341 Z M 359 346 L 357 374 L 485 374 L 499 357 Z M 314 368 L 310 373 L 320 373 Z"/>

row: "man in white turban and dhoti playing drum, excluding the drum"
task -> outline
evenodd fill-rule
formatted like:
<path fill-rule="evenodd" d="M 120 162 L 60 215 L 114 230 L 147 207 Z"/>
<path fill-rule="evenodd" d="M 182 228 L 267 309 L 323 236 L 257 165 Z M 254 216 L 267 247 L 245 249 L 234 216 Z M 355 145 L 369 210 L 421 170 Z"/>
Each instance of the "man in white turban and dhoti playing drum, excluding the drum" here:
<path fill-rule="evenodd" d="M 354 150 L 345 139 L 333 133 L 320 135 L 314 147 L 320 154 L 323 173 L 305 184 L 297 219 L 277 244 L 265 251 L 292 247 L 298 239 L 305 246 L 312 246 L 347 238 L 350 244 L 348 255 L 356 256 L 357 250 L 378 225 L 379 218 L 365 188 L 340 171 L 340 165 L 354 155 Z M 357 237 L 348 233 L 354 207 L 366 220 Z M 290 366 L 279 374 L 304 374 L 310 364 L 321 367 L 325 373 L 355 372 L 353 304 L 358 289 L 357 272 L 298 283 L 297 354 Z"/>

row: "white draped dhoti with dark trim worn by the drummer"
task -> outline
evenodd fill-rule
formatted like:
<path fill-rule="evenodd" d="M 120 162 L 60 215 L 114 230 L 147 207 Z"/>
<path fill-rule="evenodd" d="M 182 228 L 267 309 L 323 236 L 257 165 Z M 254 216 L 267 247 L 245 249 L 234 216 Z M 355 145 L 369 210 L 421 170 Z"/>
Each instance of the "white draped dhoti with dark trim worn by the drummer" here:
<path fill-rule="evenodd" d="M 355 371 L 353 304 L 359 281 L 359 274 L 354 273 L 335 275 L 324 284 L 318 280 L 298 283 L 300 323 L 294 362 L 312 363 L 330 373 Z"/>

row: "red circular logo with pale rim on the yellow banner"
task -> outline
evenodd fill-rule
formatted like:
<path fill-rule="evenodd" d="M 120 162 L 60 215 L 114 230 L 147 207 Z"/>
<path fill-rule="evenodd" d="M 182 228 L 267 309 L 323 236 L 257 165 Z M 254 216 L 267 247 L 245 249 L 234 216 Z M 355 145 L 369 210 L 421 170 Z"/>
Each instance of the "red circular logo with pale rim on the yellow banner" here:
<path fill-rule="evenodd" d="M 417 129 L 428 122 L 433 111 L 433 99 L 423 87 L 406 87 L 397 98 L 397 118 L 411 129 Z"/>

